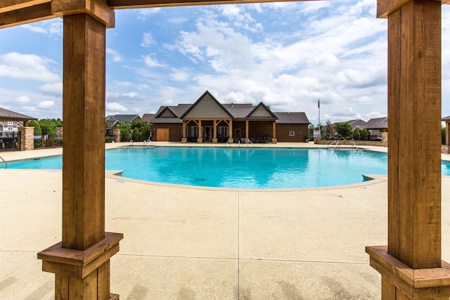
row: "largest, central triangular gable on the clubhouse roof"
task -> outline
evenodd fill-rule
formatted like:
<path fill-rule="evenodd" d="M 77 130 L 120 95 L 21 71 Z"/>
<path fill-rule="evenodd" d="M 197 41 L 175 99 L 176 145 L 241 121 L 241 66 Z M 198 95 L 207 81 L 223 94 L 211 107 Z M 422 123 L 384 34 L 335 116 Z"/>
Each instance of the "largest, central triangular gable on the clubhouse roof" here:
<path fill-rule="evenodd" d="M 185 118 L 229 118 L 233 117 L 219 101 L 205 91 L 195 103 L 181 116 Z"/>

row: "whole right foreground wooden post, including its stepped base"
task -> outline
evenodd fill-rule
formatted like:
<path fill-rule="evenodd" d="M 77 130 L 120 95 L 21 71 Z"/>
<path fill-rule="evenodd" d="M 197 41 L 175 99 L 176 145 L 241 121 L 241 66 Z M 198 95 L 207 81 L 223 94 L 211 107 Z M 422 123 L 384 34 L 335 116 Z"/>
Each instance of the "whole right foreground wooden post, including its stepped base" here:
<path fill-rule="evenodd" d="M 449 299 L 450 265 L 441 261 L 441 2 L 378 0 L 378 16 L 387 16 L 389 30 L 388 244 L 366 252 L 383 275 L 383 300 Z"/>

